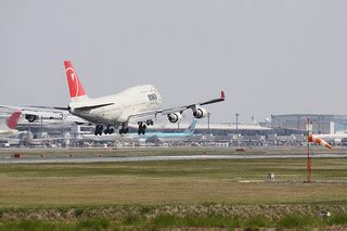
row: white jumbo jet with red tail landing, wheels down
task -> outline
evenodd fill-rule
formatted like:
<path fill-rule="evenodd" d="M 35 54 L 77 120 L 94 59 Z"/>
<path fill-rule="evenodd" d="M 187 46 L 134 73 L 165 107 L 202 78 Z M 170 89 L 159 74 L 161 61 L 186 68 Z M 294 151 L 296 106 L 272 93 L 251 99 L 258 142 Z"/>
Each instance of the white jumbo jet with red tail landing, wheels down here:
<path fill-rule="evenodd" d="M 70 103 L 67 108 L 72 114 L 95 124 L 94 134 L 113 133 L 114 128 L 119 127 L 119 133 L 128 133 L 128 123 L 132 118 L 156 117 L 157 114 L 167 115 L 168 120 L 178 123 L 185 110 L 192 110 L 195 118 L 204 118 L 207 111 L 203 105 L 224 101 L 224 92 L 221 97 L 202 103 L 160 110 L 163 99 L 152 85 L 143 85 L 128 88 L 117 94 L 91 99 L 87 95 L 70 61 L 65 61 L 65 72 L 69 88 Z M 59 107 L 56 107 L 59 108 Z M 139 134 L 144 134 L 146 126 L 153 125 L 152 119 L 139 121 Z M 106 127 L 104 129 L 104 126 Z"/>

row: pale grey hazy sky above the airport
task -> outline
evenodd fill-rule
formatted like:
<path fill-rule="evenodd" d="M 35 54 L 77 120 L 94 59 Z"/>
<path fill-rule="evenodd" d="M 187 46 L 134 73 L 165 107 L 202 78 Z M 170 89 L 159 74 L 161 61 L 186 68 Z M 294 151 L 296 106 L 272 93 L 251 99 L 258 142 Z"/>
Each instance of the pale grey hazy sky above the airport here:
<path fill-rule="evenodd" d="M 219 97 L 211 121 L 347 114 L 347 1 L 2 0 L 0 104 L 67 106 L 152 84 L 163 107 Z M 190 117 L 190 113 L 187 115 Z"/>

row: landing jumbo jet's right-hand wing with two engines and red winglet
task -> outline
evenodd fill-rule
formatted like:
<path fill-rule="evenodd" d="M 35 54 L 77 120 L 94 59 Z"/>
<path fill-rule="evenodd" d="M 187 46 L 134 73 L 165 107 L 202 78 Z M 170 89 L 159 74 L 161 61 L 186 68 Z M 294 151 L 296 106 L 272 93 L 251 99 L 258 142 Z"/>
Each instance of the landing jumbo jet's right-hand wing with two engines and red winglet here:
<path fill-rule="evenodd" d="M 183 106 L 171 107 L 171 108 L 141 112 L 141 113 L 129 115 L 129 119 L 143 118 L 143 117 L 150 117 L 150 116 L 156 117 L 158 114 L 162 114 L 162 115 L 167 115 L 171 123 L 176 123 L 180 119 L 181 114 L 185 110 L 192 110 L 195 118 L 203 118 L 207 116 L 207 111 L 201 106 L 213 104 L 213 103 L 219 103 L 224 100 L 226 100 L 224 91 L 221 91 L 220 98 L 217 98 L 217 99 L 213 99 L 213 100 L 200 102 L 200 103 L 193 103 L 189 105 L 183 105 Z"/>

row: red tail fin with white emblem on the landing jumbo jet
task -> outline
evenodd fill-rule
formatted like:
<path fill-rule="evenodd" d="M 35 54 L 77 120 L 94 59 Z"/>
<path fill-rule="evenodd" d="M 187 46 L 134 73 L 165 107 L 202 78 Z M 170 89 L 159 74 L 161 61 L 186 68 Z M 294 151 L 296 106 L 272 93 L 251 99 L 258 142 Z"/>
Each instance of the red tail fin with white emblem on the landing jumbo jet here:
<path fill-rule="evenodd" d="M 72 101 L 75 102 L 88 98 L 82 85 L 79 81 L 79 78 L 74 69 L 72 62 L 64 61 L 64 65 Z"/>

